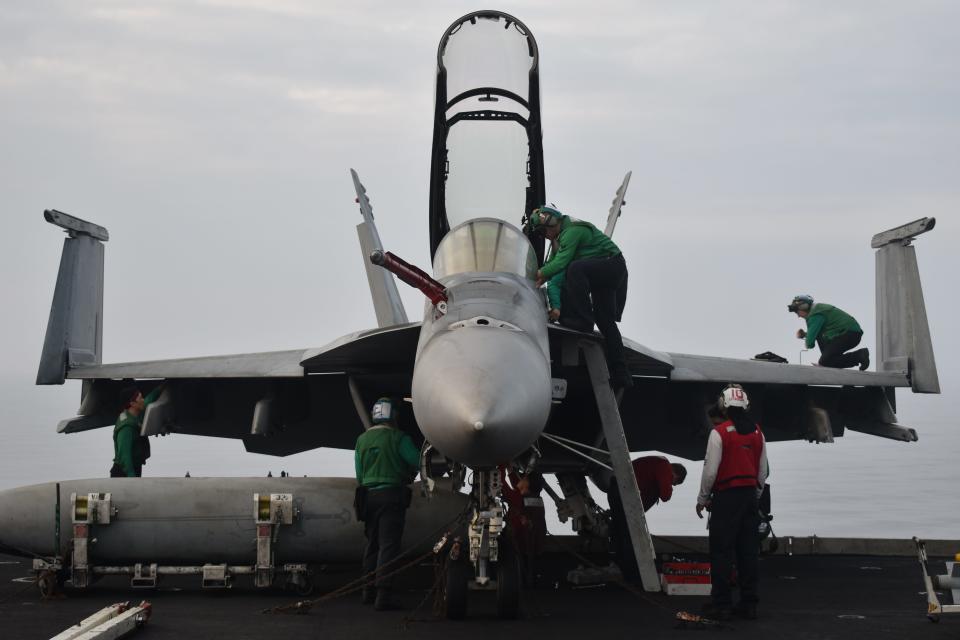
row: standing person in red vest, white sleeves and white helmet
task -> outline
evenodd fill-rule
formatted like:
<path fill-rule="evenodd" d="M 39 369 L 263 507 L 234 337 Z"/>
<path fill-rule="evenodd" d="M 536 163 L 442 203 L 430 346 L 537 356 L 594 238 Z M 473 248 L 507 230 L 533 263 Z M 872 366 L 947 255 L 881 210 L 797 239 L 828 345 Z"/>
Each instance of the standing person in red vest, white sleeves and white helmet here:
<path fill-rule="evenodd" d="M 767 480 L 767 447 L 749 414 L 750 401 L 738 384 L 723 390 L 717 408 L 726 420 L 707 440 L 707 453 L 697 497 L 697 516 L 710 511 L 710 617 L 736 614 L 757 617 L 757 574 L 760 553 L 758 500 Z M 730 576 L 736 560 L 740 602 L 733 606 Z"/>

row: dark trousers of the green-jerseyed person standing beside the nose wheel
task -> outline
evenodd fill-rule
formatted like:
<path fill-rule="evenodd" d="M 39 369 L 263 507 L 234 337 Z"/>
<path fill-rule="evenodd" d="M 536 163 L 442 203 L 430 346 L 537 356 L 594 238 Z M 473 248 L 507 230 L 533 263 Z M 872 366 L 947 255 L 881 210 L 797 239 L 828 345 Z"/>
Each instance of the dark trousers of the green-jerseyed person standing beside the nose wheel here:
<path fill-rule="evenodd" d="M 404 487 L 371 489 L 367 492 L 364 511 L 364 534 L 367 546 L 363 552 L 364 575 L 377 572 L 378 589 L 389 589 L 392 580 L 383 575 L 396 571 L 397 567 L 383 567 L 400 555 L 403 539 L 403 521 L 406 516 Z"/>

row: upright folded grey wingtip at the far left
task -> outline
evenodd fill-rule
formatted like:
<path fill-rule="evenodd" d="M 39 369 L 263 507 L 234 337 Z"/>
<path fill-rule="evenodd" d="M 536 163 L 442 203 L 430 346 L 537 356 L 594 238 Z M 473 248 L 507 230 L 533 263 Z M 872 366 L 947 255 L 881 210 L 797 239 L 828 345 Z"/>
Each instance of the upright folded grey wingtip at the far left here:
<path fill-rule="evenodd" d="M 63 384 L 75 365 L 100 364 L 103 352 L 103 227 L 55 209 L 43 212 L 66 230 L 50 305 L 37 384 Z"/>

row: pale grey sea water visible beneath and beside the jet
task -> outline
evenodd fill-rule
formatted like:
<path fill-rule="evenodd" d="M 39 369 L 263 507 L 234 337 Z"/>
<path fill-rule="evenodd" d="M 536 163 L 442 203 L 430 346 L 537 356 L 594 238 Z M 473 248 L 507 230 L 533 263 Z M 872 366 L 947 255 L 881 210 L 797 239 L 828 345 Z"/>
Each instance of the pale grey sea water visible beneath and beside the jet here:
<path fill-rule="evenodd" d="M 23 376 L 0 382 L 0 489 L 107 475 L 110 429 L 56 433 L 57 421 L 76 411 L 79 385 L 38 388 Z M 918 431 L 918 442 L 848 432 L 832 444 L 771 443 L 777 535 L 960 539 L 960 429 L 945 420 L 911 420 L 903 411 L 900 419 Z M 151 446 L 146 476 L 353 475 L 352 451 L 276 458 L 247 453 L 236 440 L 176 435 L 153 438 Z M 676 461 L 686 464 L 687 480 L 648 513 L 648 523 L 658 535 L 703 535 L 706 521 L 694 513 L 702 465 Z M 602 493 L 593 493 L 605 504 Z M 569 532 L 555 514 L 548 517 L 551 532 Z"/>

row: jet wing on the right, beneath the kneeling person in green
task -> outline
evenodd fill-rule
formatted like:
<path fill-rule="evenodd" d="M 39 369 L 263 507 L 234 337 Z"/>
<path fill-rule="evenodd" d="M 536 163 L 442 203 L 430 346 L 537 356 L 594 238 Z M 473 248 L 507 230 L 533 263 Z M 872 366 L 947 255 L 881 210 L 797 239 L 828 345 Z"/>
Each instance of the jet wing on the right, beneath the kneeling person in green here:
<path fill-rule="evenodd" d="M 554 404 L 546 432 L 596 446 L 601 430 L 593 389 L 577 357 L 582 334 L 550 332 L 553 376 L 566 381 L 566 395 Z M 768 441 L 832 442 L 853 429 L 913 441 L 916 433 L 897 424 L 894 386 L 907 386 L 903 373 L 877 374 L 811 366 L 655 352 L 625 341 L 634 387 L 620 404 L 631 451 L 661 451 L 700 460 L 712 425 L 707 410 L 729 382 L 741 382 L 751 410 Z M 681 365 L 687 381 L 677 381 Z M 695 377 L 694 372 L 699 377 Z M 545 443 L 545 456 L 561 465 L 574 462 L 562 448 Z"/>

